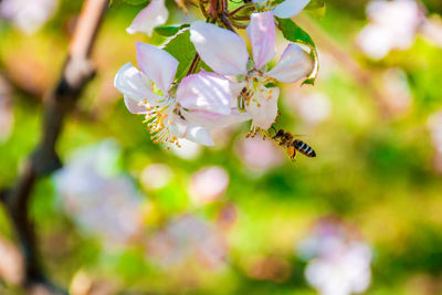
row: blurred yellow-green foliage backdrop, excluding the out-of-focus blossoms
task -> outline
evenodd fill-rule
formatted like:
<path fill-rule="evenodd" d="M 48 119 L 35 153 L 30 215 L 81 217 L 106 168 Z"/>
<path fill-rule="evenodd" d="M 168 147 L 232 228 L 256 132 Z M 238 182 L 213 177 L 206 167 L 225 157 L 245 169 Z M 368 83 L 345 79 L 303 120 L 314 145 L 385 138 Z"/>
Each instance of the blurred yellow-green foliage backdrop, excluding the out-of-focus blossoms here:
<path fill-rule="evenodd" d="M 440 1 L 423 2 L 430 13 L 442 11 Z M 373 249 L 372 283 L 367 294 L 442 294 L 442 181 L 433 168 L 435 150 L 427 123 L 442 105 L 442 51 L 417 36 L 410 50 L 394 51 L 382 62 L 364 59 L 354 40 L 367 23 L 365 4 L 329 0 L 325 18 L 305 14 L 299 24 L 313 23 L 315 32 L 311 32 L 314 40 L 323 39 L 317 41 L 319 55 L 329 53 L 327 42 L 333 41 L 375 80 L 382 69 L 401 67 L 413 96 L 410 109 L 383 116 L 370 89 L 380 85 L 359 83 L 340 61 L 335 61 L 333 69 L 324 63 L 322 71 L 328 74 L 319 76 L 314 89 L 329 96 L 332 113 L 304 137 L 318 157 L 299 156 L 295 164 L 286 159 L 264 173 L 250 171 L 235 152 L 236 141 L 245 136 L 249 124 L 234 129 L 225 147 L 203 148 L 192 160 L 165 152 L 150 141 L 143 118 L 130 115 L 113 88 L 113 77 L 124 63 L 135 64 L 135 41 L 159 44 L 162 39 L 125 32 L 140 7 L 112 7 L 93 54 L 97 76 L 87 85 L 78 109 L 65 126 L 59 143 L 61 157 L 114 138 L 123 148 L 120 169 L 137 183 L 147 165 L 169 165 L 175 177 L 166 188 L 145 191 L 140 186 L 154 208 L 145 221 L 147 235 L 182 213 L 212 220 L 223 204 L 235 204 L 238 221 L 229 233 L 228 266 L 218 272 L 196 271 L 200 280 L 192 285 L 186 283 L 185 270 L 165 271 L 146 260 L 143 245 L 109 251 L 98 239 L 83 235 L 60 210 L 51 179 L 45 178 L 38 182 L 31 214 L 50 276 L 70 286 L 74 274 L 83 271 L 127 292 L 122 294 L 315 294 L 304 280 L 305 262 L 297 257 L 295 244 L 308 234 L 317 218 L 333 214 L 356 224 Z M 182 13 L 173 2 L 168 6 L 169 23 L 180 22 Z M 61 1 L 56 15 L 33 35 L 0 23 L 1 67 L 36 97 L 13 91 L 15 122 L 12 135 L 0 144 L 0 187 L 13 183 L 20 165 L 39 140 L 39 96 L 56 81 L 70 28 L 80 9 L 81 1 Z M 308 32 L 308 28 L 305 30 Z M 287 99 L 283 96 L 280 101 L 281 126 L 305 134 Z M 212 204 L 194 206 L 186 189 L 189 178 L 212 165 L 229 172 L 228 191 Z M 2 208 L 0 236 L 14 239 Z M 244 261 L 255 255 L 288 262 L 288 278 L 276 283 L 248 275 Z M 1 291 L 21 292 L 0 285 Z"/>

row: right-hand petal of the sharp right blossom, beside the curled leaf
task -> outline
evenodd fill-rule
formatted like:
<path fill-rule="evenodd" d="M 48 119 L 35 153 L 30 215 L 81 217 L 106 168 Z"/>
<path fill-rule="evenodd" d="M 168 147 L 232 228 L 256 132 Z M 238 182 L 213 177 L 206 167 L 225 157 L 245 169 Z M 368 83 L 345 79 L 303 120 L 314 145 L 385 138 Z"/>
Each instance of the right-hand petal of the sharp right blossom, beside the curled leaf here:
<path fill-rule="evenodd" d="M 293 83 L 312 73 L 313 66 L 314 63 L 308 53 L 297 44 L 291 43 L 267 75 L 281 82 Z"/>

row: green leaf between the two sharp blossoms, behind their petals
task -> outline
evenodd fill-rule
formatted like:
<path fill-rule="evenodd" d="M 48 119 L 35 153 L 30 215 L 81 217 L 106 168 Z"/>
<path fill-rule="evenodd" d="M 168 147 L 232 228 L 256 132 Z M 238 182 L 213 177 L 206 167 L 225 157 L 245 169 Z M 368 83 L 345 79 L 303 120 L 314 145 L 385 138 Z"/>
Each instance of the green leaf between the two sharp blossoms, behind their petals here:
<path fill-rule="evenodd" d="M 190 42 L 190 31 L 188 29 L 178 31 L 164 45 L 162 49 L 178 60 L 177 80 L 186 76 L 192 60 L 197 53 L 192 42 Z"/>

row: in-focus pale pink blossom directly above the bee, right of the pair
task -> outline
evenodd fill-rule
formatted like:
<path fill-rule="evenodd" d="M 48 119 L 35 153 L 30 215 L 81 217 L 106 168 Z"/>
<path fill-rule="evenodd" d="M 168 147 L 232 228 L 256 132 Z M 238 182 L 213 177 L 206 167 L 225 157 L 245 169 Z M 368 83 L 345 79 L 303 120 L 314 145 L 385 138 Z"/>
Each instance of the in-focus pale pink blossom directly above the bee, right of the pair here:
<path fill-rule="evenodd" d="M 274 84 L 276 81 L 293 83 L 306 77 L 312 72 L 313 61 L 301 46 L 290 43 L 276 65 L 267 70 L 276 53 L 275 23 L 271 11 L 252 13 L 246 31 L 252 43 L 253 65 L 249 63 L 244 40 L 227 29 L 197 21 L 190 27 L 190 40 L 201 60 L 213 71 L 239 77 L 234 87 L 242 91 L 243 102 L 240 105 L 244 105 L 254 126 L 269 129 L 277 116 L 280 88 Z"/>

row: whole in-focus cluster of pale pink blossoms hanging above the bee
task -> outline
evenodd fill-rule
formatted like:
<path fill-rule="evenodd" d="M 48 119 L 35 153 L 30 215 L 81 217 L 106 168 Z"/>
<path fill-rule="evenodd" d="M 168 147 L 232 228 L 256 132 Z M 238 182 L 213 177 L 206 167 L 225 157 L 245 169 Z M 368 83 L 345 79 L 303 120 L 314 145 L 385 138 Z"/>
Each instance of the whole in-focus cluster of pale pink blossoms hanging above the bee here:
<path fill-rule="evenodd" d="M 188 32 L 196 50 L 185 77 L 177 73 L 182 62 L 179 57 L 165 49 L 137 42 L 138 69 L 130 63 L 122 66 L 115 76 L 115 87 L 124 94 L 130 113 L 145 116 L 151 139 L 166 147 L 179 147 L 183 138 L 212 146 L 213 130 L 249 119 L 252 134 L 269 135 L 278 115 L 277 83 L 295 83 L 314 72 L 311 52 L 296 42 L 288 42 L 278 61 L 273 62 L 278 22 L 299 13 L 309 2 L 254 0 L 229 12 L 224 0 L 211 0 L 208 8 L 200 1 L 207 22 L 179 27 L 177 33 Z M 225 9 L 221 12 L 212 9 L 223 4 Z M 235 18 L 240 10 L 249 13 Z M 127 32 L 150 35 L 167 19 L 165 0 L 152 0 Z M 248 23 L 239 24 L 236 19 Z M 234 28 L 246 29 L 251 54 Z"/>

